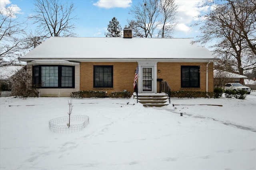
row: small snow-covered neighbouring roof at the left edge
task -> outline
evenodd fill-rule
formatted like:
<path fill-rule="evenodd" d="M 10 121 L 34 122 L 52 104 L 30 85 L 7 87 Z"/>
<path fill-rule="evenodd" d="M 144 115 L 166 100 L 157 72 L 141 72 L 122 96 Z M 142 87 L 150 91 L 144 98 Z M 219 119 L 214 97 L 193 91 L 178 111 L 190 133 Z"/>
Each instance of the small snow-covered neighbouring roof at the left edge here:
<path fill-rule="evenodd" d="M 0 67 L 0 80 L 8 80 L 16 72 L 21 70 L 24 66 L 1 66 Z"/>

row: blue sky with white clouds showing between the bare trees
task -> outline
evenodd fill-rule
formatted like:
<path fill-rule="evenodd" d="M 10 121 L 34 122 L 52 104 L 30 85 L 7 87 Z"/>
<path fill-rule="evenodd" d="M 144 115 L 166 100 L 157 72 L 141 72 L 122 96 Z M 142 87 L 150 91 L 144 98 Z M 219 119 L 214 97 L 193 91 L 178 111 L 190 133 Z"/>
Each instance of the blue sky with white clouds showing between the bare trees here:
<path fill-rule="evenodd" d="M 75 11 L 72 13 L 78 20 L 75 33 L 78 37 L 105 37 L 104 33 L 109 21 L 116 17 L 122 28 L 128 25 L 127 19 L 132 19 L 129 14 L 132 6 L 136 6 L 142 0 L 61 0 L 62 2 L 73 2 Z M 178 24 L 173 37 L 185 38 L 196 37 L 198 28 L 190 28 L 190 25 L 198 20 L 198 14 L 205 12 L 208 8 L 199 8 L 202 0 L 175 0 L 178 5 Z M 19 18 L 26 18 L 32 14 L 34 0 L 0 0 L 0 8 L 12 6 Z M 29 29 L 34 29 L 33 25 Z"/>

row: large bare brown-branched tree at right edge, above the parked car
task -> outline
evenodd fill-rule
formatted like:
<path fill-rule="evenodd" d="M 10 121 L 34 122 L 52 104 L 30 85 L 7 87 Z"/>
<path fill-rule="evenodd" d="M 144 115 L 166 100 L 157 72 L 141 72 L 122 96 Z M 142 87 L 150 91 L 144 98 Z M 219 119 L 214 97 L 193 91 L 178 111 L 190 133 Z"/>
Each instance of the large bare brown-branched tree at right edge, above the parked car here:
<path fill-rule="evenodd" d="M 252 0 L 225 0 L 221 4 L 208 1 L 204 6 L 213 9 L 203 16 L 201 34 L 194 42 L 205 45 L 216 41 L 216 56 L 221 58 L 218 68 L 243 75 L 244 70 L 256 68 L 256 6 Z"/>

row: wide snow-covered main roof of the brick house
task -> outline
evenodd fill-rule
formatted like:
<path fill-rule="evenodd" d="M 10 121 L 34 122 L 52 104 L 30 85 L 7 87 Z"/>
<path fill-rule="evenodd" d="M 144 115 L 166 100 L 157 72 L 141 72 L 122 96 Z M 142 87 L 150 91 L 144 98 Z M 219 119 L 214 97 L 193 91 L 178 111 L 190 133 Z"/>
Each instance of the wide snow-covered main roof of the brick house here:
<path fill-rule="evenodd" d="M 214 56 L 188 38 L 50 37 L 21 61 L 124 59 L 203 59 Z"/>

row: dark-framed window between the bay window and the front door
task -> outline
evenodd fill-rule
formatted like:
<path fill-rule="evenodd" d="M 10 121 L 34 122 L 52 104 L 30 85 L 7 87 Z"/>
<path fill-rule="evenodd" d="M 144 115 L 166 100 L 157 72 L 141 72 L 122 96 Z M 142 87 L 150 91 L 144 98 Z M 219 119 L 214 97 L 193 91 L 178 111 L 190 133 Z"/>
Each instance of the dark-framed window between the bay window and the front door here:
<path fill-rule="evenodd" d="M 93 87 L 113 87 L 113 66 L 93 66 Z"/>

